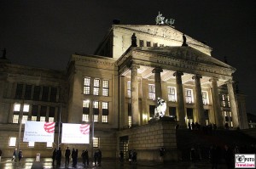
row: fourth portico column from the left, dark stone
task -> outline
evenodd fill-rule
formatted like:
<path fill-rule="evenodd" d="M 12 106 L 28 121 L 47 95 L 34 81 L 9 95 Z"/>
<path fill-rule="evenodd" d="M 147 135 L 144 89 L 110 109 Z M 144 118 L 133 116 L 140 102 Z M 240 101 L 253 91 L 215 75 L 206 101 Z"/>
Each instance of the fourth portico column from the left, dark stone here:
<path fill-rule="evenodd" d="M 196 105 L 196 109 L 197 109 L 197 121 L 199 122 L 199 124 L 201 124 L 202 126 L 206 126 L 206 117 L 204 115 L 204 106 L 203 106 L 203 102 L 202 102 L 202 95 L 201 95 L 201 75 L 195 75 L 192 76 L 192 79 L 195 80 L 195 105 Z"/>

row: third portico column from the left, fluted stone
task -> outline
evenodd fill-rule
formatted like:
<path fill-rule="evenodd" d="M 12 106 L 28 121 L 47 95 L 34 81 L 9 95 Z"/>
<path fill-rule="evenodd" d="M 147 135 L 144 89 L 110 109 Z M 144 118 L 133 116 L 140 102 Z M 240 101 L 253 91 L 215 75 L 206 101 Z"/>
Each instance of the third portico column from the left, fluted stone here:
<path fill-rule="evenodd" d="M 176 76 L 176 88 L 177 88 L 177 121 L 179 121 L 180 127 L 186 127 L 185 121 L 185 106 L 183 96 L 183 82 L 181 76 L 183 72 L 177 71 L 173 74 Z"/>

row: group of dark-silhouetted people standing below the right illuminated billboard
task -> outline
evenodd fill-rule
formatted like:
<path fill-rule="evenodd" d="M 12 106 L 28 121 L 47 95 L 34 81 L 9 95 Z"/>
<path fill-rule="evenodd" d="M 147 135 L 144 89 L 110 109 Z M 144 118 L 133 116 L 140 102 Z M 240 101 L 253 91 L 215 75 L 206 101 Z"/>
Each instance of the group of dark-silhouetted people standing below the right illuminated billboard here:
<path fill-rule="evenodd" d="M 72 158 L 72 166 L 75 167 L 78 164 L 78 157 L 79 157 L 79 149 L 73 149 L 72 151 L 67 147 L 65 150 L 65 166 L 69 166 L 70 162 L 70 156 Z M 85 149 L 83 150 L 81 154 L 83 164 L 84 166 L 89 166 L 89 154 L 88 150 Z M 102 151 L 100 149 L 97 149 L 95 154 L 94 154 L 94 159 L 95 159 L 95 165 L 101 166 L 102 162 Z M 54 149 L 52 153 L 52 165 L 55 166 L 55 161 L 57 166 L 61 166 L 61 147 L 59 149 Z"/>

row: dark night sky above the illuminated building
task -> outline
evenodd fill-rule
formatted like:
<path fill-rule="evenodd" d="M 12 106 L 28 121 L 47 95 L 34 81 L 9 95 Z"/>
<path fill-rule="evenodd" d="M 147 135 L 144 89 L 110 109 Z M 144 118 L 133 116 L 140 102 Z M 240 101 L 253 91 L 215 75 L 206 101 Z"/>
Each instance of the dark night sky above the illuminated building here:
<path fill-rule="evenodd" d="M 14 64 L 64 70 L 71 54 L 94 53 L 113 19 L 154 25 L 160 11 L 178 31 L 207 42 L 214 58 L 227 57 L 247 112 L 256 114 L 255 8 L 254 0 L 1 0 L 0 48 Z"/>

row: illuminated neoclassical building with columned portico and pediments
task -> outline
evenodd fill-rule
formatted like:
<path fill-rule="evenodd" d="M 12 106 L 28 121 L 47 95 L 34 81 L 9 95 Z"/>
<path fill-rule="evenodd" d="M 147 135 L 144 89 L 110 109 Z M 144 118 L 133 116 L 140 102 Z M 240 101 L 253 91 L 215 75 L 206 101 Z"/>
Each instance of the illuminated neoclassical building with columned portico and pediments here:
<path fill-rule="evenodd" d="M 53 147 L 67 146 L 61 144 L 61 123 L 89 123 L 90 144 L 69 147 L 91 155 L 102 149 L 111 158 L 136 149 L 144 160 L 157 160 L 152 152 L 165 147 L 172 150 L 170 160 L 178 151 L 177 124 L 247 129 L 245 96 L 232 76 L 236 69 L 211 52 L 170 25 L 113 25 L 95 54 L 73 54 L 67 70 L 13 65 L 4 57 L 0 149 L 9 156 L 19 144 L 26 156 L 49 156 Z M 158 98 L 166 101 L 172 121 L 149 122 Z M 55 121 L 55 143 L 22 142 L 20 121 Z"/>

